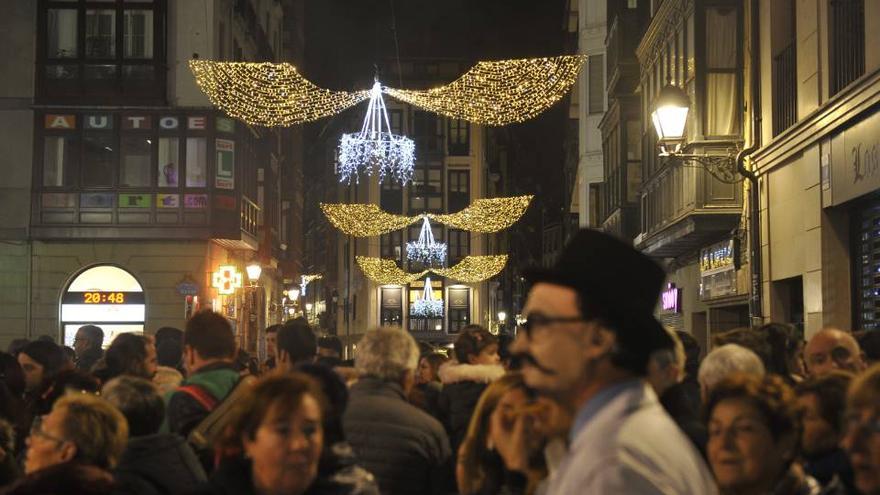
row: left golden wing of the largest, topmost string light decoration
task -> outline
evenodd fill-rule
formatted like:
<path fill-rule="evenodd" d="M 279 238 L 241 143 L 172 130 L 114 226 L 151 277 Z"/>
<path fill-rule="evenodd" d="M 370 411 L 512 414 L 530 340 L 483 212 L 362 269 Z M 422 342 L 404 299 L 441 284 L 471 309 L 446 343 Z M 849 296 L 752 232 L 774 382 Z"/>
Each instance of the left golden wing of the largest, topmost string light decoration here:
<path fill-rule="evenodd" d="M 369 91 L 330 91 L 287 63 L 190 60 L 189 68 L 211 103 L 229 116 L 263 127 L 311 122 L 354 106 Z"/>

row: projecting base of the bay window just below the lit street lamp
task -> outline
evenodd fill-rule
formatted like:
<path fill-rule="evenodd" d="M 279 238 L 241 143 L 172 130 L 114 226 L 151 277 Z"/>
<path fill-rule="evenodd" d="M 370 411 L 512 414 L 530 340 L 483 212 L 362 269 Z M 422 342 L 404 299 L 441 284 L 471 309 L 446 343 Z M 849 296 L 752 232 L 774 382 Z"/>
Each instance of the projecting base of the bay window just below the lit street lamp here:
<path fill-rule="evenodd" d="M 696 251 L 736 228 L 742 182 L 726 184 L 705 169 L 667 161 L 642 195 L 642 232 L 636 247 L 658 258 Z"/>

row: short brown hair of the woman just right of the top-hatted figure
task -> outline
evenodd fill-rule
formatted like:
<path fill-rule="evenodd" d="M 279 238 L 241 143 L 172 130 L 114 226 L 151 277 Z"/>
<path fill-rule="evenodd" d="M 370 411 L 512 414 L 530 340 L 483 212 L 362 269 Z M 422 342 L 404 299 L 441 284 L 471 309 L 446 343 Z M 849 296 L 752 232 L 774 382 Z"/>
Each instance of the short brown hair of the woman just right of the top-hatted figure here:
<path fill-rule="evenodd" d="M 776 375 L 758 377 L 748 373 L 733 373 L 721 380 L 709 392 L 706 401 L 706 422 L 721 401 L 740 399 L 750 403 L 764 417 L 767 428 L 777 441 L 788 434 L 800 437 L 800 412 L 794 390 Z"/>

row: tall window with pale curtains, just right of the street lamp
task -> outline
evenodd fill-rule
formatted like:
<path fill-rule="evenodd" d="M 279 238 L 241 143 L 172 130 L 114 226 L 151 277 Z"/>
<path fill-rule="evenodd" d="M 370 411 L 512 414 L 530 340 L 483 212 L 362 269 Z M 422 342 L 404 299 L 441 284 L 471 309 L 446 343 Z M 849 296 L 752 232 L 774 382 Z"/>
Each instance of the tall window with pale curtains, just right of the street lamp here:
<path fill-rule="evenodd" d="M 706 134 L 739 134 L 737 10 L 706 9 Z"/>

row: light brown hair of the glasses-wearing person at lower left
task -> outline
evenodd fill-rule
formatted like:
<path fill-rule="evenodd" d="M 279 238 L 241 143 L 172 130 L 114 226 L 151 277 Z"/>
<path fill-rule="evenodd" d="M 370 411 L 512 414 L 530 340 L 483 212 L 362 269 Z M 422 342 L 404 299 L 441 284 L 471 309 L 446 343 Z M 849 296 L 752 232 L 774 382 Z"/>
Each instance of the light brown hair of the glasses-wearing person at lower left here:
<path fill-rule="evenodd" d="M 119 410 L 100 397 L 76 392 L 58 399 L 52 410 L 64 410 L 61 431 L 76 445 L 76 460 L 102 469 L 116 466 L 128 442 L 128 423 Z"/>

